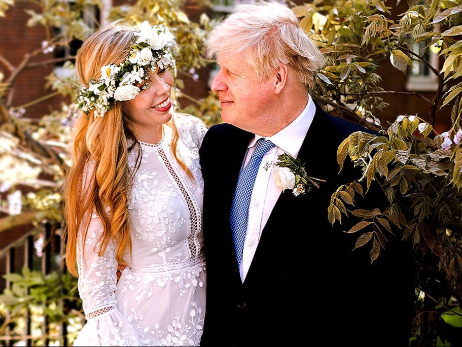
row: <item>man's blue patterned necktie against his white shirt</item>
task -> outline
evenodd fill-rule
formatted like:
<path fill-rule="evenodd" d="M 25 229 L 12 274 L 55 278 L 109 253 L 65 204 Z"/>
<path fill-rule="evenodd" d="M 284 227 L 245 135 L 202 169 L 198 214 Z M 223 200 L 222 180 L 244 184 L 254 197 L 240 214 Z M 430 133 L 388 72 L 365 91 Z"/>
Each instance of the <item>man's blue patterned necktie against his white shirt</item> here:
<path fill-rule="evenodd" d="M 260 138 L 257 141 L 257 145 L 255 146 L 250 160 L 242 169 L 239 179 L 237 180 L 229 220 L 231 222 L 234 250 L 236 251 L 239 268 L 242 261 L 245 234 L 247 233 L 248 207 L 250 205 L 255 178 L 257 177 L 258 168 L 260 167 L 263 156 L 273 146 L 274 144 L 271 141 Z"/>

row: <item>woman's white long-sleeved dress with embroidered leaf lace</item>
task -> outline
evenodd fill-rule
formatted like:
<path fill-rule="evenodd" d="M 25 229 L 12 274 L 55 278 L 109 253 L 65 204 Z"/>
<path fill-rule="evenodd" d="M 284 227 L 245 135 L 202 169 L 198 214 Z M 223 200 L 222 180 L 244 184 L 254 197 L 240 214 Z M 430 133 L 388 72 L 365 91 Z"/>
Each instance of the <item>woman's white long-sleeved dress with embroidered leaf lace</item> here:
<path fill-rule="evenodd" d="M 125 258 L 129 265 L 118 284 L 115 245 L 102 257 L 94 250 L 102 230 L 95 214 L 86 239 L 78 240 L 78 288 L 87 322 L 75 346 L 199 345 L 205 262 L 198 149 L 206 127 L 192 116 L 174 117 L 177 148 L 196 182 L 173 158 L 168 126 L 159 144 L 140 142 L 143 157 L 128 207 L 133 252 L 131 259 Z M 132 151 L 130 165 L 135 159 Z"/>

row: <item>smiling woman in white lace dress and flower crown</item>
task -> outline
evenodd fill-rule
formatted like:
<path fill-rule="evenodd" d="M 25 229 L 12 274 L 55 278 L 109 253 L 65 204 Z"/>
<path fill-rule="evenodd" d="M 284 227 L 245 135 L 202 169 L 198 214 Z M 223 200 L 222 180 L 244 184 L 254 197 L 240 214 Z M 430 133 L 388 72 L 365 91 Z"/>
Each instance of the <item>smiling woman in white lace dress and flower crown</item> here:
<path fill-rule="evenodd" d="M 206 126 L 173 111 L 175 49 L 145 21 L 101 28 L 78 52 L 66 265 L 87 323 L 74 345 L 199 345 Z"/>

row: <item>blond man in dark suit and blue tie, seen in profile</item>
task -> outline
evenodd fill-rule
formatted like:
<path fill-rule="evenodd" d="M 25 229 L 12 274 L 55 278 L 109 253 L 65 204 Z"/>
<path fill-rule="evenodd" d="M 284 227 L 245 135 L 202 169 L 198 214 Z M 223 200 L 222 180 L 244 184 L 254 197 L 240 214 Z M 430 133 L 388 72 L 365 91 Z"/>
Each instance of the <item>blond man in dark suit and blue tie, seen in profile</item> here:
<path fill-rule="evenodd" d="M 331 194 L 360 177 L 351 162 L 339 174 L 337 148 L 350 133 L 368 130 L 328 115 L 309 95 L 322 54 L 294 13 L 275 3 L 237 6 L 206 44 L 220 65 L 211 90 L 225 123 L 208 130 L 200 150 L 207 261 L 201 345 L 408 345 L 409 248 L 390 237 L 371 264 L 369 249 L 353 250 L 358 235 L 344 232 L 349 221 L 328 221 Z M 262 137 L 270 141 L 265 150 Z M 284 153 L 324 182 L 294 186 L 277 165 Z"/>

